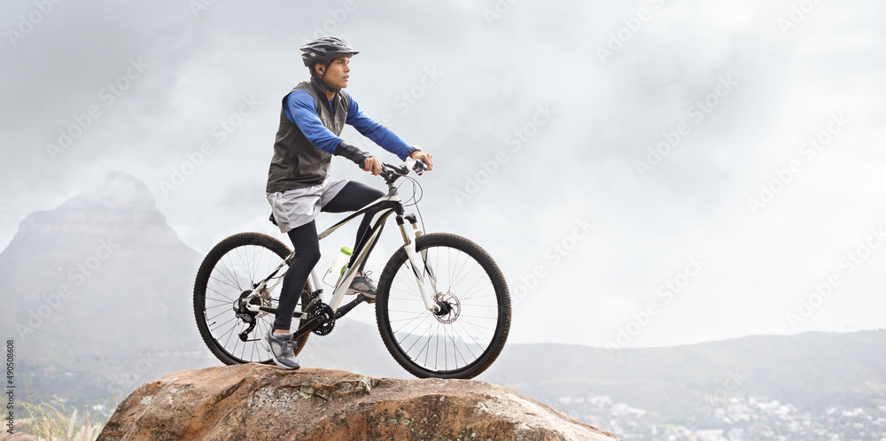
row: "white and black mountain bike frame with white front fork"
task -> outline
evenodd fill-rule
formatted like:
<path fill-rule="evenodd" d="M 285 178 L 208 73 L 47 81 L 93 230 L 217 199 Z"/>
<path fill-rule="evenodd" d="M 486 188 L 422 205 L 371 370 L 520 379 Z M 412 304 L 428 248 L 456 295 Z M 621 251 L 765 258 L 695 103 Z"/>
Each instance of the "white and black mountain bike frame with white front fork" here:
<path fill-rule="evenodd" d="M 432 313 L 438 313 L 440 310 L 440 306 L 437 304 L 437 300 L 435 299 L 436 289 L 436 280 L 431 271 L 431 268 L 425 265 L 424 259 L 426 255 L 424 253 L 420 253 L 416 251 L 416 238 L 424 234 L 415 220 L 414 216 L 405 216 L 403 215 L 404 209 L 403 205 L 400 203 L 400 194 L 397 192 L 397 189 L 392 185 L 392 182 L 388 183 L 388 194 L 384 197 L 379 197 L 375 201 L 369 203 L 362 207 L 360 210 L 352 213 L 344 220 L 339 221 L 337 224 L 333 225 L 330 228 L 327 228 L 317 236 L 317 240 L 323 240 L 326 236 L 330 236 L 335 230 L 342 227 L 346 223 L 350 221 L 354 221 L 361 216 L 361 214 L 366 213 L 368 211 L 377 210 L 372 216 L 372 220 L 369 222 L 369 239 L 363 242 L 363 245 L 354 250 L 357 253 L 357 258 L 354 259 L 354 263 L 346 267 L 344 275 L 338 278 L 338 282 L 334 290 L 332 291 L 332 298 L 330 298 L 329 306 L 332 308 L 333 313 L 338 313 L 338 306 L 341 305 L 341 301 L 345 298 L 346 292 L 348 288 L 351 286 L 351 282 L 354 281 L 354 276 L 357 275 L 357 268 L 360 267 L 361 263 L 369 256 L 369 250 L 372 248 L 371 245 L 375 244 L 378 239 L 378 236 L 381 234 L 382 227 L 385 224 L 388 216 L 391 214 L 396 214 L 397 216 L 397 224 L 400 226 L 400 233 L 403 236 L 404 242 L 404 250 L 408 256 L 409 262 L 412 264 L 413 273 L 416 276 L 416 283 L 418 284 L 418 290 L 422 294 L 422 299 L 424 300 L 424 307 L 427 308 L 428 311 Z M 381 207 L 381 208 L 379 208 Z M 412 228 L 407 228 L 406 219 L 411 221 Z M 283 275 L 285 274 L 284 267 L 288 267 L 288 262 L 291 262 L 295 257 L 295 251 L 292 251 L 289 256 L 284 259 L 284 261 L 276 267 L 276 269 L 271 272 L 271 275 L 268 275 L 265 280 L 260 282 L 254 289 L 253 292 L 249 294 L 247 298 L 244 300 L 244 304 L 246 309 L 253 311 L 255 313 L 266 312 L 266 313 L 276 313 L 276 309 L 268 308 L 267 306 L 261 305 L 253 305 L 249 300 L 254 296 L 261 296 L 261 293 L 267 292 L 272 293 L 283 284 Z M 319 262 L 318 262 L 319 266 Z M 423 271 L 419 271 L 418 268 L 423 268 Z M 427 276 L 427 277 L 425 277 Z M 311 280 L 314 282 L 315 290 L 319 290 L 321 277 L 317 271 L 317 267 L 311 269 Z M 273 282 L 271 282 L 273 281 Z M 268 284 L 270 282 L 270 284 Z M 430 286 L 428 286 L 430 283 Z M 304 307 L 307 310 L 306 305 Z M 348 311 L 350 308 L 347 309 Z M 346 312 L 346 311 L 345 311 Z M 295 312 L 293 313 L 293 318 L 295 319 L 303 319 L 305 313 L 304 312 Z M 342 314 L 343 315 L 343 314 Z M 336 315 L 338 318 L 338 314 Z"/>

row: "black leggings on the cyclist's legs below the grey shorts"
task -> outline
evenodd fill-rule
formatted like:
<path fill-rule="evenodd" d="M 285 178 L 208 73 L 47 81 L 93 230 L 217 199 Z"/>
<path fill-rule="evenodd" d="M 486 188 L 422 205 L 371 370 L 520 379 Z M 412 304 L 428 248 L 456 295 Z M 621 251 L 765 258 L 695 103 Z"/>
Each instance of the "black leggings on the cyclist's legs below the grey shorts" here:
<path fill-rule="evenodd" d="M 348 181 L 332 200 L 323 205 L 321 211 L 327 213 L 354 212 L 383 196 L 385 196 L 384 191 L 373 189 L 361 182 Z M 374 213 L 369 212 L 363 215 L 360 227 L 357 228 L 354 250 L 360 249 L 369 239 L 369 221 L 372 220 Z M 277 306 L 276 319 L 274 320 L 274 329 L 285 329 L 286 331 L 291 328 L 292 313 L 295 312 L 295 306 L 299 303 L 299 296 L 307 283 L 307 277 L 311 274 L 311 269 L 320 261 L 320 241 L 317 240 L 317 226 L 314 221 L 291 229 L 289 239 L 292 241 L 295 257 L 284 275 L 280 305 Z M 372 251 L 371 247 L 369 251 Z M 354 252 L 351 261 L 353 262 L 356 257 L 357 253 Z M 363 270 L 365 264 L 364 260 L 360 265 L 360 271 Z"/>

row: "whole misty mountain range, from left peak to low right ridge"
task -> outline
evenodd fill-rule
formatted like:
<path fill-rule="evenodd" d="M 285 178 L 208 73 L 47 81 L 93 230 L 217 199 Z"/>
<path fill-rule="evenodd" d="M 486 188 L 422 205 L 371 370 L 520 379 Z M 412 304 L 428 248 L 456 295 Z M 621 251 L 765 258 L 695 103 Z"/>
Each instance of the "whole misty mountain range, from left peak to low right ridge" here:
<path fill-rule="evenodd" d="M 194 323 L 202 256 L 169 228 L 144 182 L 109 173 L 58 208 L 29 215 L 0 253 L 3 337 L 37 399 L 119 401 L 181 369 L 217 366 Z M 886 331 L 743 337 L 688 346 L 606 349 L 508 344 L 477 380 L 548 403 L 608 395 L 680 422 L 706 401 L 780 399 L 810 411 L 886 405 Z M 347 320 L 311 336 L 302 365 L 411 378 L 374 326 Z"/>

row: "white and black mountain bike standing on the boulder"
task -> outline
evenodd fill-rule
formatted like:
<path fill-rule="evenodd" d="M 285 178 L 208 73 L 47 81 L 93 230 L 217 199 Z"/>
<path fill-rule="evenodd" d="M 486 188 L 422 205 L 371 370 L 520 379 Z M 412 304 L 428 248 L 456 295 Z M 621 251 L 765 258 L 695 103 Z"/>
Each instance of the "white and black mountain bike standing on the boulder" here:
<path fill-rule="evenodd" d="M 411 163 L 411 160 L 410 160 Z M 324 301 L 317 267 L 301 291 L 293 313 L 296 354 L 310 334 L 326 336 L 338 319 L 362 303 L 374 303 L 378 331 L 400 366 L 420 378 L 473 378 L 501 352 L 510 329 L 510 296 L 501 270 L 478 244 L 449 233 L 425 234 L 416 205 L 424 162 L 383 164 L 387 194 L 318 235 L 320 240 L 367 212 L 375 212 L 369 239 L 354 250 Z M 400 200 L 398 180 L 413 182 L 413 204 Z M 416 190 L 417 189 L 417 190 Z M 369 256 L 389 218 L 396 220 L 403 245 L 394 251 L 378 279 L 376 298 L 362 294 L 342 305 L 357 268 Z M 424 221 L 422 222 L 424 226 Z M 273 325 L 283 276 L 295 256 L 275 237 L 241 233 L 222 240 L 206 255 L 194 282 L 194 314 L 206 346 L 225 364 L 273 364 L 262 337 Z M 312 285 L 313 282 L 313 285 Z M 312 289 L 312 287 L 314 289 Z"/>

